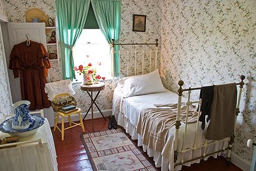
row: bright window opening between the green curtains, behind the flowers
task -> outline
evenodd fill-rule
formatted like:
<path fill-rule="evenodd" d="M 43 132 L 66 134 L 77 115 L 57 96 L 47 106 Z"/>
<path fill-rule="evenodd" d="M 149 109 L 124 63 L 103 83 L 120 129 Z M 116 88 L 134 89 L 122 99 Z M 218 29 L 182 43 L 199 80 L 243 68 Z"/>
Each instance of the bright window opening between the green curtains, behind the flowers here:
<path fill-rule="evenodd" d="M 89 57 L 88 57 L 89 56 Z M 99 29 L 84 29 L 73 48 L 74 66 L 92 64 L 97 74 L 111 76 L 110 45 Z M 100 65 L 98 65 L 100 64 Z M 83 81 L 83 76 L 76 72 L 76 80 Z"/>

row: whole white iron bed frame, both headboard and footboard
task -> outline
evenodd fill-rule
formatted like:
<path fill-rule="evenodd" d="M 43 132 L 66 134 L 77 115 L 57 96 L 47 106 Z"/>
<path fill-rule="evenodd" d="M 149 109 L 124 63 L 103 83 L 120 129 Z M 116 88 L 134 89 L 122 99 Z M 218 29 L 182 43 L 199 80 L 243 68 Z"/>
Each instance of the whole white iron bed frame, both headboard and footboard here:
<path fill-rule="evenodd" d="M 156 54 L 155 54 L 155 60 L 154 60 L 154 69 L 156 70 L 157 69 L 157 59 L 158 59 L 158 39 L 156 39 L 156 43 L 120 43 L 120 44 L 116 44 L 114 43 L 114 39 L 112 39 L 112 75 L 113 75 L 113 78 L 112 78 L 112 88 L 114 89 L 114 54 L 115 53 L 118 53 L 119 54 L 119 78 L 121 78 L 121 72 L 120 72 L 120 68 L 121 68 L 121 63 L 120 63 L 120 53 L 121 51 L 114 51 L 114 47 L 115 46 L 123 46 L 123 45 L 133 45 L 135 46 L 135 50 L 134 51 L 126 51 L 127 53 L 127 74 L 126 76 L 128 77 L 129 76 L 129 54 L 130 52 L 134 52 L 134 75 L 136 76 L 137 75 L 137 45 L 155 45 L 156 46 Z M 142 50 L 142 74 L 144 74 L 144 50 Z M 152 58 L 152 50 L 150 51 L 150 72 L 151 72 L 151 58 Z M 239 83 L 236 83 L 237 85 L 239 85 L 239 93 L 238 93 L 238 101 L 237 101 L 237 109 L 236 109 L 236 113 L 235 114 L 235 122 L 237 121 L 237 115 L 240 113 L 239 111 L 239 105 L 240 105 L 240 100 L 241 100 L 241 93 L 242 93 L 242 88 L 244 87 L 245 83 L 244 83 L 244 79 L 245 79 L 245 76 L 241 75 L 240 76 L 240 79 L 241 81 Z M 200 145 L 198 146 L 197 145 L 197 135 L 198 135 L 198 129 L 199 129 L 199 115 L 200 115 L 200 111 L 201 111 L 201 99 L 197 100 L 197 101 L 191 101 L 191 92 L 194 91 L 194 90 L 200 90 L 202 87 L 194 87 L 194 88 L 185 88 L 183 89 L 183 85 L 184 85 L 184 81 L 183 80 L 179 80 L 178 82 L 178 85 L 179 85 L 179 89 L 178 89 L 178 111 L 177 111 L 177 118 L 176 118 L 176 122 L 175 122 L 175 134 L 174 134 L 174 167 L 175 166 L 178 166 L 178 165 L 183 165 L 184 163 L 187 163 L 187 162 L 191 162 L 191 161 L 194 161 L 194 160 L 198 160 L 198 159 L 202 159 L 202 158 L 205 158 L 206 156 L 210 156 L 210 155 L 213 155 L 213 154 L 217 154 L 217 153 L 220 153 L 220 152 L 224 152 L 227 150 L 227 158 L 226 158 L 226 161 L 227 161 L 227 164 L 229 165 L 230 164 L 230 157 L 231 157 L 231 150 L 232 150 L 232 147 L 233 147 L 233 144 L 234 144 L 234 138 L 235 138 L 235 135 L 231 136 L 231 137 L 227 137 L 227 138 L 224 138 L 224 139 L 221 139 L 221 140 L 215 140 L 213 142 L 210 142 L 210 143 L 207 143 L 207 140 L 205 140 L 204 144 L 203 145 Z M 186 110 L 186 122 L 185 122 L 185 129 L 184 129 L 184 134 L 183 134 L 183 146 L 182 146 L 182 149 L 180 152 L 177 151 L 177 148 L 178 148 L 178 134 L 179 134 L 179 128 L 181 126 L 181 123 L 180 123 L 180 110 L 181 110 L 181 98 L 183 97 L 183 92 L 188 92 L 188 98 L 187 98 L 187 101 L 186 101 L 186 105 L 187 105 L 187 110 Z M 187 131 L 187 116 L 188 116 L 188 107 L 192 104 L 198 104 L 199 105 L 199 111 L 198 111 L 198 119 L 197 119 L 197 127 L 196 127 L 196 134 L 195 134 L 195 138 L 194 138 L 194 145 L 192 148 L 184 148 L 184 144 L 185 144 L 185 140 L 186 140 L 186 131 Z M 221 148 L 221 150 L 219 151 L 215 151 L 213 153 L 208 153 L 206 154 L 206 149 L 208 146 L 214 144 L 214 143 L 218 143 L 218 142 L 226 142 L 228 141 L 228 146 L 227 148 L 225 147 L 225 143 L 223 143 L 223 147 Z M 203 155 L 197 157 L 197 158 L 193 158 L 193 159 L 190 159 L 190 160 L 186 160 L 184 161 L 184 154 L 188 151 L 193 151 L 197 148 L 201 148 L 203 147 L 204 148 L 204 152 L 203 152 Z M 177 156 L 178 154 L 181 154 L 181 160 L 180 162 L 177 162 Z"/>

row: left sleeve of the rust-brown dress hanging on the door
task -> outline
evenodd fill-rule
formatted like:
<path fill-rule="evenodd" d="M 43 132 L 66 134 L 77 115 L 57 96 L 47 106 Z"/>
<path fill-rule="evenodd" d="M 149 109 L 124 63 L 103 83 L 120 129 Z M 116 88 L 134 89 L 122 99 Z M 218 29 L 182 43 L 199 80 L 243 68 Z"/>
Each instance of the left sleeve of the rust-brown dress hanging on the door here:
<path fill-rule="evenodd" d="M 18 51 L 17 45 L 14 45 L 14 47 L 11 50 L 10 54 L 10 63 L 9 63 L 9 69 L 14 71 L 14 78 L 19 77 L 19 57 L 20 53 Z"/>

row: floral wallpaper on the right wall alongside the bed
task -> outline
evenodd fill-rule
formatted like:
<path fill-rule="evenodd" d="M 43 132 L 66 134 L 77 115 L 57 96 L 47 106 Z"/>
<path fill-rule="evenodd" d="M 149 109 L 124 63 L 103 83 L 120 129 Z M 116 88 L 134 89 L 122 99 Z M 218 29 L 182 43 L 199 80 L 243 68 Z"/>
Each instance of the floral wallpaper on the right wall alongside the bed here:
<path fill-rule="evenodd" d="M 239 82 L 246 76 L 233 152 L 251 161 L 256 141 L 256 2 L 163 0 L 161 76 L 164 85 L 184 87 Z M 197 97 L 194 98 L 197 99 Z"/>

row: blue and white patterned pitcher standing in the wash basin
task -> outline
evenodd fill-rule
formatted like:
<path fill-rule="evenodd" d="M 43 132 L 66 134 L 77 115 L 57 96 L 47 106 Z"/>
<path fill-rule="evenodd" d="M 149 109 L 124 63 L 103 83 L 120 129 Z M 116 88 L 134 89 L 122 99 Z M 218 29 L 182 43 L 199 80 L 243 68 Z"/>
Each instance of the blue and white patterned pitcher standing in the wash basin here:
<path fill-rule="evenodd" d="M 21 100 L 11 105 L 15 111 L 14 121 L 11 123 L 11 128 L 14 130 L 24 130 L 33 127 L 36 120 L 29 114 L 30 101 Z"/>

